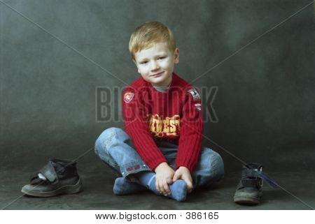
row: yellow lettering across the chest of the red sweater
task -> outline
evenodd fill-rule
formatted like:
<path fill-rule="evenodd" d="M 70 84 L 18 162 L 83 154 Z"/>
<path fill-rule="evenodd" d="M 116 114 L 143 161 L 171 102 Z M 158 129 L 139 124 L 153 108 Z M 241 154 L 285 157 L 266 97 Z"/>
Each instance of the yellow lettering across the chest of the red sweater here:
<path fill-rule="evenodd" d="M 148 126 L 153 136 L 166 137 L 173 135 L 179 136 L 181 130 L 181 117 L 163 117 L 159 114 L 146 114 Z"/>

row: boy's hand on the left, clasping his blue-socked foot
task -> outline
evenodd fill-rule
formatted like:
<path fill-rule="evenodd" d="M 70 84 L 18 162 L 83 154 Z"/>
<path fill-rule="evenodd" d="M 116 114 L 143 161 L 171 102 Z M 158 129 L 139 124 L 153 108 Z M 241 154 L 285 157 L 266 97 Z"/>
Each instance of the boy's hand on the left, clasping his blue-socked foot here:
<path fill-rule="evenodd" d="M 169 184 L 173 183 L 174 170 L 164 162 L 160 163 L 154 171 L 156 174 L 155 188 L 165 196 L 170 195 L 171 190 L 169 190 Z"/>

